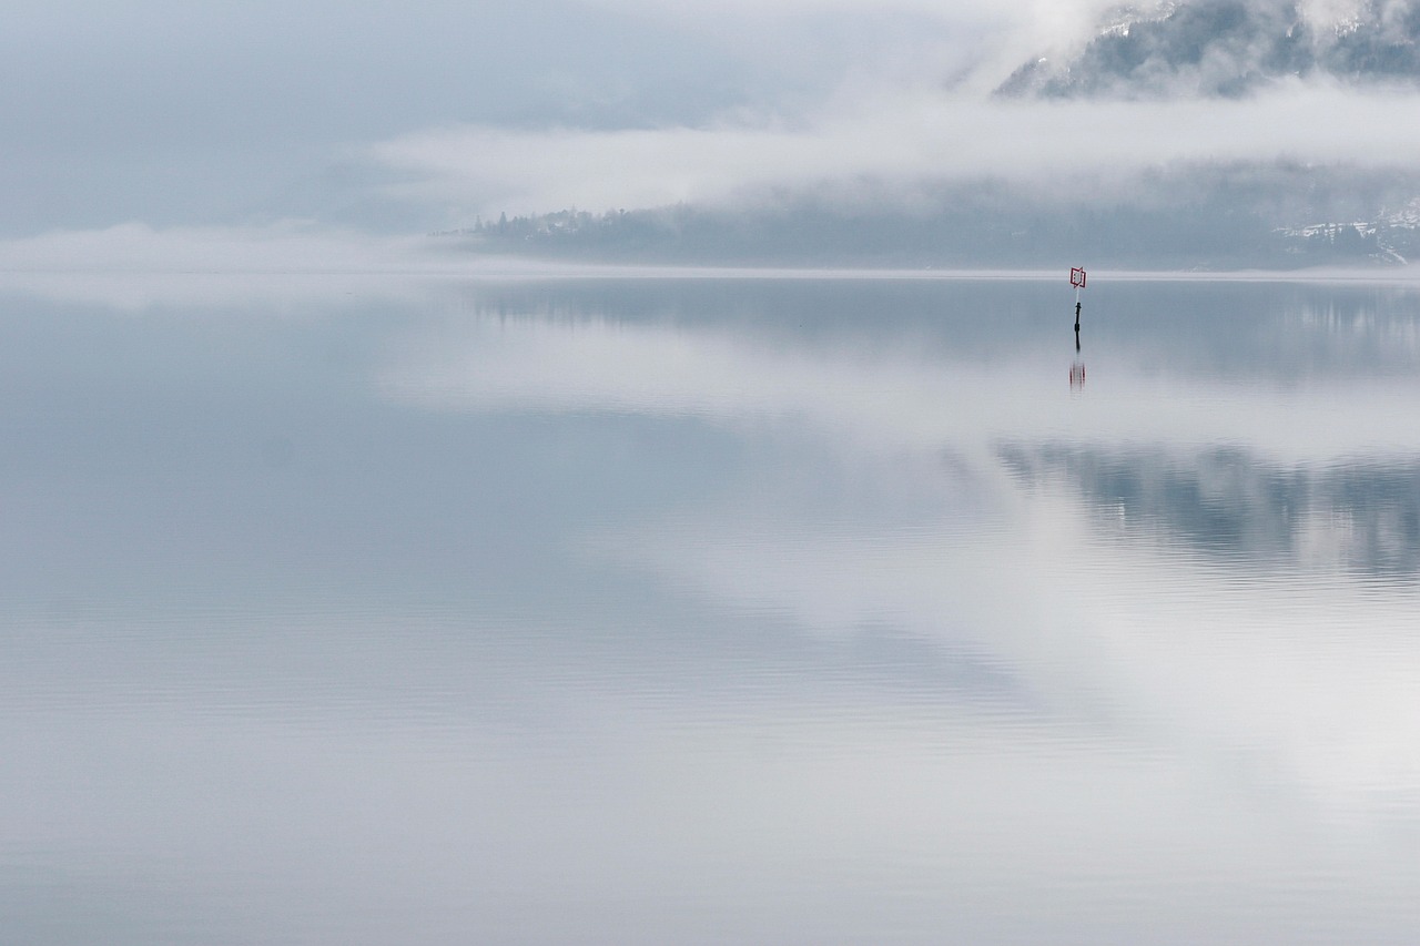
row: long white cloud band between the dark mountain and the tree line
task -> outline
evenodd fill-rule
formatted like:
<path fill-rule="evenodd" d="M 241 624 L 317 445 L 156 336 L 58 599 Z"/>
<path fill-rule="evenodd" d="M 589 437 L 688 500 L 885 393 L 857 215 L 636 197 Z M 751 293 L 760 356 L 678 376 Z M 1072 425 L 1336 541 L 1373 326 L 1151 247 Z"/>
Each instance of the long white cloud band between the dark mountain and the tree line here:
<path fill-rule="evenodd" d="M 1003 102 L 939 89 L 843 95 L 812 115 L 701 126 L 511 131 L 452 125 L 372 148 L 393 195 L 450 219 L 740 203 L 872 182 L 990 176 L 1047 189 L 1169 163 L 1288 159 L 1400 166 L 1420 161 L 1414 91 L 1292 82 L 1242 101 Z M 1105 195 L 1108 196 L 1108 195 Z"/>

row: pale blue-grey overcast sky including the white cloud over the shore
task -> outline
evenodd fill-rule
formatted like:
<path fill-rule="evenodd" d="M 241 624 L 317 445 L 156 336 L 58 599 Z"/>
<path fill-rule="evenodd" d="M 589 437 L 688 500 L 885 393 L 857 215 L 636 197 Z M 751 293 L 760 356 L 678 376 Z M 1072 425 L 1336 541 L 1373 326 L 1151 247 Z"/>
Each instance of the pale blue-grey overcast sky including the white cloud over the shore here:
<path fill-rule="evenodd" d="M 0 236 L 290 220 L 419 233 L 798 185 L 906 195 L 950 175 L 1048 185 L 1176 161 L 1420 159 L 1410 94 L 988 98 L 1100 6 L 10 0 Z"/>

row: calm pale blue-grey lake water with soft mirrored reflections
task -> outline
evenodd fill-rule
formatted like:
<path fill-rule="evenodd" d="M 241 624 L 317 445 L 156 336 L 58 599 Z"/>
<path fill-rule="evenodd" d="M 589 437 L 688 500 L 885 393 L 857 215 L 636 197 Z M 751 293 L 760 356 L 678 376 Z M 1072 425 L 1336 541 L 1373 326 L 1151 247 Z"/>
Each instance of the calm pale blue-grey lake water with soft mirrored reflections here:
<path fill-rule="evenodd" d="M 36 277 L 0 942 L 1420 942 L 1420 288 Z"/>

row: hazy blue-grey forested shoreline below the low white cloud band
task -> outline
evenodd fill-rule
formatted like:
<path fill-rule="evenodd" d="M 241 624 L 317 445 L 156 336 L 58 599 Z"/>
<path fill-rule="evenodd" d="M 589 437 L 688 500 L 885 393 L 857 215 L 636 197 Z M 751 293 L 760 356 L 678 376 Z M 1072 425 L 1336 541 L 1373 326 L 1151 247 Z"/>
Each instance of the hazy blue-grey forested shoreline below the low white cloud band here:
<path fill-rule="evenodd" d="M 1265 190 L 1265 189 L 1264 189 Z M 1234 268 L 1402 263 L 1420 256 L 1414 220 L 1355 223 L 1282 213 L 1277 195 L 1237 187 L 1190 200 L 1058 203 L 1001 187 L 961 189 L 932 209 L 811 197 L 740 209 L 676 205 L 500 214 L 442 236 L 470 250 L 616 263 L 727 266 Z"/>

